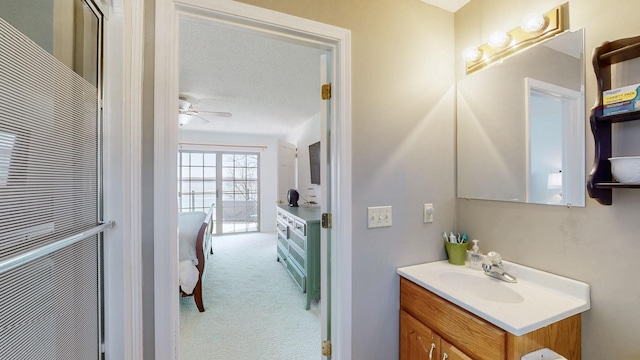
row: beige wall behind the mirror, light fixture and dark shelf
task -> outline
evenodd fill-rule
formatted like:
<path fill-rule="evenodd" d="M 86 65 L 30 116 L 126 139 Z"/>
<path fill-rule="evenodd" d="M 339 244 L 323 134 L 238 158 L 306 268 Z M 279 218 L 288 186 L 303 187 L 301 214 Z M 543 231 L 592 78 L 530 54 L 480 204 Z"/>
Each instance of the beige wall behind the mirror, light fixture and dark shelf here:
<path fill-rule="evenodd" d="M 561 3 L 472 0 L 455 14 L 456 53 L 486 42 L 493 31 L 517 26 L 527 12 L 543 12 Z M 592 50 L 604 41 L 639 35 L 638 11 L 640 2 L 635 0 L 569 3 L 571 29 L 585 28 L 587 114 L 597 91 Z M 463 64 L 458 59 L 460 76 Z M 587 169 L 594 156 L 589 128 L 587 124 Z M 626 147 L 631 153 L 620 155 L 640 154 L 640 127 L 626 124 L 625 132 L 625 140 L 635 138 L 636 144 Z M 618 135 L 614 133 L 614 141 L 622 137 Z M 457 200 L 456 205 L 458 228 L 480 239 L 485 252 L 497 250 L 505 259 L 591 285 L 592 309 L 582 323 L 585 360 L 640 358 L 639 214 L 640 191 L 634 189 L 614 190 L 612 206 L 592 199 L 585 208 L 571 209 L 478 200 Z"/>

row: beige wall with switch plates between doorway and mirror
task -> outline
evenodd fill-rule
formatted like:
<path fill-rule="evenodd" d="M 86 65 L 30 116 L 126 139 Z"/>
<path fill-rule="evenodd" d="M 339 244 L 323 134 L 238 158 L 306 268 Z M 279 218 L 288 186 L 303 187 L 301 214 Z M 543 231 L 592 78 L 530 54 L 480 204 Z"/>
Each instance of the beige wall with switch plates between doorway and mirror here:
<path fill-rule="evenodd" d="M 438 234 L 453 225 L 453 14 L 418 0 L 244 2 L 351 30 L 352 359 L 397 358 L 396 268 L 444 258 Z M 378 205 L 393 226 L 367 229 Z"/>

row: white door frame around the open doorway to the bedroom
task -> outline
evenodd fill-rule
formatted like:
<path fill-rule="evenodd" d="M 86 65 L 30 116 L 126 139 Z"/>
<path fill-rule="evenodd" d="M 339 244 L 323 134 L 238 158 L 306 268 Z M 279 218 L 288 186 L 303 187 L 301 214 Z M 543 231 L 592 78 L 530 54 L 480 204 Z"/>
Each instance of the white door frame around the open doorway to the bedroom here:
<path fill-rule="evenodd" d="M 333 55 L 330 144 L 332 359 L 351 358 L 351 32 L 292 15 L 225 0 L 159 0 L 155 19 L 154 315 L 156 359 L 179 359 L 175 99 L 178 98 L 178 18 L 201 17 L 263 36 L 324 47 Z M 339 241 L 338 241 L 339 239 Z M 171 244 L 168 246 L 168 244 Z M 318 349 L 320 354 L 320 349 Z"/>

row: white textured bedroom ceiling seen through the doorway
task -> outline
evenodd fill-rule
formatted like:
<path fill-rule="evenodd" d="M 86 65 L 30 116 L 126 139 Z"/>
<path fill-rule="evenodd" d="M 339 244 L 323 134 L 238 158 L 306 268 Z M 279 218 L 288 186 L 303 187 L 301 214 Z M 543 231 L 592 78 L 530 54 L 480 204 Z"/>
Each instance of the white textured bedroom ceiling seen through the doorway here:
<path fill-rule="evenodd" d="M 320 111 L 322 50 L 244 29 L 180 20 L 179 92 L 200 113 L 182 129 L 283 135 Z M 176 101 L 177 111 L 177 101 Z"/>

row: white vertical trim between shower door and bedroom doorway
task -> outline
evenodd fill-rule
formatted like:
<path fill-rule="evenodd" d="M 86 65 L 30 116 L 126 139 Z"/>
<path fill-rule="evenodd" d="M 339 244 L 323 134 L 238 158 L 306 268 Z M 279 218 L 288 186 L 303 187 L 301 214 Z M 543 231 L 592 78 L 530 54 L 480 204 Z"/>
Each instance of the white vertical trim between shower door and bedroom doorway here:
<path fill-rule="evenodd" d="M 104 353 L 142 359 L 142 63 L 144 3 L 94 0 L 104 13 Z M 126 15 L 126 16 L 125 16 Z M 123 53 L 124 52 L 124 53 Z"/>

